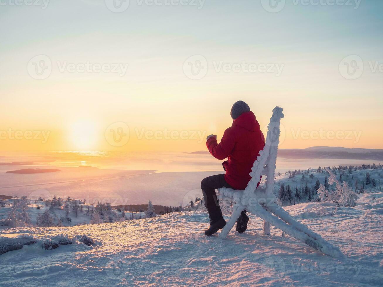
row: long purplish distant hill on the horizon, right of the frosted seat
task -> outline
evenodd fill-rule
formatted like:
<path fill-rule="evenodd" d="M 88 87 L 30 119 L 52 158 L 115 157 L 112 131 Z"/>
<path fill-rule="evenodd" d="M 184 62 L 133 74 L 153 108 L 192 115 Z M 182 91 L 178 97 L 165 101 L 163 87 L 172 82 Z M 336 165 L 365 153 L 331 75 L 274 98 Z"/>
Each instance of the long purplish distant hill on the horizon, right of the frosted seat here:
<path fill-rule="evenodd" d="M 350 160 L 383 160 L 383 150 L 372 148 L 309 147 L 304 149 L 278 149 L 283 158 L 337 158 Z"/>

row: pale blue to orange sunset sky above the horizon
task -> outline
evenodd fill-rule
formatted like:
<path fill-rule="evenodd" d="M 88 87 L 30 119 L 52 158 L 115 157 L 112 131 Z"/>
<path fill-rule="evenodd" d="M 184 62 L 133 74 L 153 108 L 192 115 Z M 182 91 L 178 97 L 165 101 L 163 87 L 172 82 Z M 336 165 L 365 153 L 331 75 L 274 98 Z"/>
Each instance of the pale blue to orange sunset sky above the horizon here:
<path fill-rule="evenodd" d="M 284 109 L 281 148 L 383 148 L 381 1 L 286 0 L 276 13 L 263 0 L 130 0 L 120 13 L 106 2 L 45 0 L 43 9 L 43 0 L 2 0 L 0 150 L 205 150 L 208 134 L 220 139 L 231 125 L 239 99 L 262 127 L 273 107 Z M 51 61 L 41 80 L 38 55 Z M 193 55 L 207 64 L 195 80 L 184 65 Z M 349 55 L 350 67 L 362 63 L 360 75 L 344 75 Z M 87 63 L 118 64 L 118 73 L 81 72 Z M 129 127 L 122 147 L 105 139 L 115 122 Z"/>

